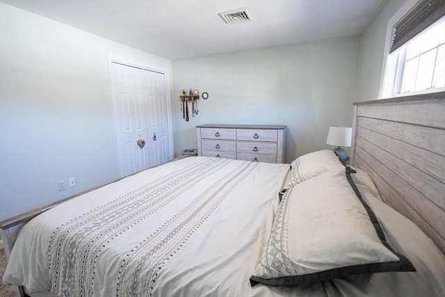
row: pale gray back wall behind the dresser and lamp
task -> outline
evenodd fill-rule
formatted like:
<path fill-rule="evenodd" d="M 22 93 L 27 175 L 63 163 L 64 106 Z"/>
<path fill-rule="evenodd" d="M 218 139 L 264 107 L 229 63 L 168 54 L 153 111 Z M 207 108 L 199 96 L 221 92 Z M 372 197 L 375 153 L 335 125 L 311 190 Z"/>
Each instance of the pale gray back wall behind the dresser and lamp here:
<path fill-rule="evenodd" d="M 332 148 L 330 125 L 352 125 L 360 38 L 172 61 L 175 152 L 196 147 L 196 125 L 287 125 L 286 161 Z M 186 122 L 181 90 L 207 91 Z"/>

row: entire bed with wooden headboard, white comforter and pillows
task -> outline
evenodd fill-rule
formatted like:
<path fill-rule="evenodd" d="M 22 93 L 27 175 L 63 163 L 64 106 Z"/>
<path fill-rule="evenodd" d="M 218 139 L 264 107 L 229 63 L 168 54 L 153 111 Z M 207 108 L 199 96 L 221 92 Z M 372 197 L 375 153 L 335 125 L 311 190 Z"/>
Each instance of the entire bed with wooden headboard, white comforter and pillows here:
<path fill-rule="evenodd" d="M 444 95 L 355 104 L 351 164 L 191 156 L 3 221 L 3 282 L 17 296 L 444 296 Z"/>

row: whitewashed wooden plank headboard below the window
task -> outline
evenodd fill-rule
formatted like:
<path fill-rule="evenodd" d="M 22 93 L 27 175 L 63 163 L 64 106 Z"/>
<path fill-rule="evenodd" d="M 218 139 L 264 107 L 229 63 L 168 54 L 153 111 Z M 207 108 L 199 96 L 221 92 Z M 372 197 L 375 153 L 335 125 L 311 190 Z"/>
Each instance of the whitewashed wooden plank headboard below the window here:
<path fill-rule="evenodd" d="M 351 162 L 445 253 L 445 92 L 354 104 Z"/>

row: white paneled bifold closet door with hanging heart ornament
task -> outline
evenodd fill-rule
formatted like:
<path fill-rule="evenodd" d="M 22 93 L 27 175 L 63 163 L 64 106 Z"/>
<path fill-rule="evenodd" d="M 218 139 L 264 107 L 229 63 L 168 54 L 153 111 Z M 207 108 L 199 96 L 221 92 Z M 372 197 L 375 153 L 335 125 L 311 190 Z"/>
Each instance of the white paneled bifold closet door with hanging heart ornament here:
<path fill-rule="evenodd" d="M 110 78 L 121 177 L 168 161 L 165 74 L 111 62 Z"/>

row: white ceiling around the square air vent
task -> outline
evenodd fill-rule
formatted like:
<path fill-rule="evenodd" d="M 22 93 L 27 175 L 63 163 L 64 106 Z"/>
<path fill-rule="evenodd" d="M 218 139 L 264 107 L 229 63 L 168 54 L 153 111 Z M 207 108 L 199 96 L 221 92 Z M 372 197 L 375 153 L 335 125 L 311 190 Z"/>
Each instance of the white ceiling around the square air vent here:
<path fill-rule="evenodd" d="M 0 0 L 176 60 L 360 35 L 387 0 Z M 251 22 L 218 13 L 248 8 Z"/>

